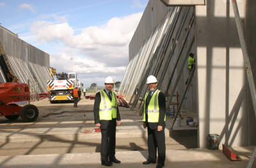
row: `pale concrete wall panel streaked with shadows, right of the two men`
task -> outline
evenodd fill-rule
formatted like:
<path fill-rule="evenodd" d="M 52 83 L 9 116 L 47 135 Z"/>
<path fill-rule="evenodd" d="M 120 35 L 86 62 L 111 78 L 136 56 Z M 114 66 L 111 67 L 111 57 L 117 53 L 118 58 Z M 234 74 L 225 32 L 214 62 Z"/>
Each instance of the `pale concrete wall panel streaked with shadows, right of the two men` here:
<path fill-rule="evenodd" d="M 246 1 L 238 3 L 245 17 Z M 219 134 L 220 144 L 255 144 L 249 132 L 254 118 L 248 106 L 248 86 L 232 3 L 207 0 L 196 6 L 196 53 L 198 73 L 199 146 L 208 134 Z"/>

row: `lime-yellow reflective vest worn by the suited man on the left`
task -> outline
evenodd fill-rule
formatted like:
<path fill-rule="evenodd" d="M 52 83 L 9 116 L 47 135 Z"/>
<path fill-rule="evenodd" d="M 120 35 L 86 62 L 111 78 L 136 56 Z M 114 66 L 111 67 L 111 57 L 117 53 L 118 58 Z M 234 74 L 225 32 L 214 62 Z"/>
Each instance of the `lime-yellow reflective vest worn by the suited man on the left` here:
<path fill-rule="evenodd" d="M 100 97 L 100 120 L 112 120 L 112 118 L 116 118 L 116 94 L 112 92 L 112 101 L 110 101 L 106 92 L 101 90 Z"/>

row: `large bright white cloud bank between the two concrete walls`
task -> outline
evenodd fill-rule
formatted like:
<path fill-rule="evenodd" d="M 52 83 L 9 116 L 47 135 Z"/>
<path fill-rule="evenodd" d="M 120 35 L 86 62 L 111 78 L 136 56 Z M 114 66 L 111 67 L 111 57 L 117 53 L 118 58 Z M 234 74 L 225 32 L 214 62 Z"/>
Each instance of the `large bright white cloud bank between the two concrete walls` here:
<path fill-rule="evenodd" d="M 56 48 L 60 43 L 64 46 L 58 48 L 58 53 L 49 53 L 51 67 L 56 68 L 57 72 L 68 73 L 73 67 L 73 71 L 84 76 L 85 83 L 91 84 L 92 81 L 88 79 L 97 77 L 103 84 L 104 78 L 109 75 L 115 76 L 116 81 L 122 80 L 128 64 L 129 43 L 141 15 L 142 13 L 136 13 L 111 18 L 107 24 L 85 27 L 77 35 L 74 35 L 74 28 L 64 20 L 58 24 L 49 21 L 34 22 L 31 32 L 41 43 L 54 43 Z M 71 57 L 74 58 L 73 64 Z"/>

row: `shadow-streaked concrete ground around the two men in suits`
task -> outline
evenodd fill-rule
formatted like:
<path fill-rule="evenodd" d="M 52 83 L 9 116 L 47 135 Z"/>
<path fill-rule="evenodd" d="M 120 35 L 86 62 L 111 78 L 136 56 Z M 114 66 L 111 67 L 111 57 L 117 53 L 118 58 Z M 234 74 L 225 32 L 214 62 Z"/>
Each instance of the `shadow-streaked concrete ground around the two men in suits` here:
<path fill-rule="evenodd" d="M 39 109 L 35 122 L 20 118 L 0 118 L 0 167 L 105 167 L 100 165 L 100 132 L 93 120 L 93 100 L 50 104 L 47 99 L 31 102 Z M 171 108 L 172 109 L 172 108 Z M 147 160 L 147 130 L 136 110 L 120 107 L 122 123 L 116 131 L 116 158 L 121 164 L 111 167 L 156 167 Z M 241 161 L 230 161 L 222 149 L 198 149 L 197 129 L 186 124 L 183 111 L 180 127 L 172 127 L 173 116 L 166 117 L 166 162 L 164 167 L 246 167 L 255 146 L 230 148 Z M 92 132 L 86 134 L 84 130 Z M 254 164 L 253 167 L 256 167 Z"/>

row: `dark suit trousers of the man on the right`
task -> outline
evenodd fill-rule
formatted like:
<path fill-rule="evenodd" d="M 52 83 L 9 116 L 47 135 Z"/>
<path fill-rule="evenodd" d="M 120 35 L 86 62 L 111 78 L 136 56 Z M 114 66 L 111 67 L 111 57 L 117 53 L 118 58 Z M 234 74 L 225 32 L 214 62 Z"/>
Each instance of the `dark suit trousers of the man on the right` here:
<path fill-rule="evenodd" d="M 148 127 L 148 160 L 156 162 L 156 150 L 158 148 L 158 164 L 165 161 L 165 134 L 164 129 L 158 132 L 157 129 Z"/>

